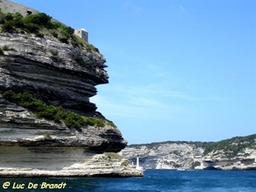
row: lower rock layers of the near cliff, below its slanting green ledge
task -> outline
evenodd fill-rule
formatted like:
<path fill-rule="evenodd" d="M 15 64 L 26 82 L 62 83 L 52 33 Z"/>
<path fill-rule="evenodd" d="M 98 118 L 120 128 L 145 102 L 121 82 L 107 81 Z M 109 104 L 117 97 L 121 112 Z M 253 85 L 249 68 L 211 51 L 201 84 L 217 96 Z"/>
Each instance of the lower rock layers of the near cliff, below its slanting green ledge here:
<path fill-rule="evenodd" d="M 38 119 L 1 96 L 0 111 L 0 177 L 143 176 L 115 153 L 126 141 L 107 120 L 77 131 Z"/>

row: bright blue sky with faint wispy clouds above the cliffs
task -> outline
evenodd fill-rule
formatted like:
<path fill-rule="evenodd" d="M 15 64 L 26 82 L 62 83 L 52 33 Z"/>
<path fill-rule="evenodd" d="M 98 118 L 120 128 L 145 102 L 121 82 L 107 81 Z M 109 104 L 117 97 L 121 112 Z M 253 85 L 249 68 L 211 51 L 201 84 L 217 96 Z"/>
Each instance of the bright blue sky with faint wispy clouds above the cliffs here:
<path fill-rule="evenodd" d="M 256 132 L 255 0 L 13 0 L 73 28 L 107 59 L 90 99 L 132 143 Z"/>

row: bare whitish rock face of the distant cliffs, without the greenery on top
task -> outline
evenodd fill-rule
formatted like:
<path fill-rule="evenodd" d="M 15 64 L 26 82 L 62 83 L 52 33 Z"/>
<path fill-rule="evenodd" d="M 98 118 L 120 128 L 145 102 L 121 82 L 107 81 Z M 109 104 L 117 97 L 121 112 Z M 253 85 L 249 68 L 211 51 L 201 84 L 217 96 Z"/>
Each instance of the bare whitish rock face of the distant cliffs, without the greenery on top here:
<path fill-rule="evenodd" d="M 245 148 L 235 156 L 224 150 L 208 154 L 204 151 L 204 147 L 195 143 L 167 142 L 131 145 L 119 154 L 133 162 L 136 162 L 134 154 L 139 154 L 140 163 L 146 169 L 256 170 L 256 148 Z"/>

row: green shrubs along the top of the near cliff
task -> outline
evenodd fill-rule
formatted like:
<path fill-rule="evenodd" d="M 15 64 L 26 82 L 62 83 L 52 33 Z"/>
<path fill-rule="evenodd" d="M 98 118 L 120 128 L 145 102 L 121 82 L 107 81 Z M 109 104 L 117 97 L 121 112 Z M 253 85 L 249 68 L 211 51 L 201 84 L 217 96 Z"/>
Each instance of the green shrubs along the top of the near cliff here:
<path fill-rule="evenodd" d="M 73 44 L 74 47 L 84 47 L 89 52 L 99 53 L 99 49 L 88 44 L 84 39 L 73 34 L 71 26 L 65 26 L 61 22 L 53 21 L 52 17 L 44 13 L 32 14 L 23 17 L 20 13 L 3 13 L 0 9 L 0 26 L 2 32 L 34 33 L 38 37 L 45 34 L 58 38 L 61 43 Z"/>

